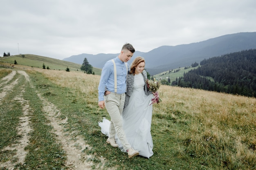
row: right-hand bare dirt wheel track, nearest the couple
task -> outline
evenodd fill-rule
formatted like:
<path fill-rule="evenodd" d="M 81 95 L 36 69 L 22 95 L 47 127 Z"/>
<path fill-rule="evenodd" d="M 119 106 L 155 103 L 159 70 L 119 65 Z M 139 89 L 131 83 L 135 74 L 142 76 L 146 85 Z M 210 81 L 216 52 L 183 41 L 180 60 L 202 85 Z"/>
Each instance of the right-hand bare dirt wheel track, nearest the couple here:
<path fill-rule="evenodd" d="M 39 93 L 38 97 L 43 101 L 43 111 L 47 113 L 47 118 L 50 120 L 51 125 L 54 127 L 54 133 L 59 142 L 61 142 L 63 149 L 67 155 L 66 166 L 74 170 L 85 170 L 91 169 L 94 163 L 90 161 L 92 155 L 87 155 L 83 150 L 90 149 L 90 146 L 85 144 L 85 141 L 80 137 L 76 136 L 75 139 L 72 134 L 65 134 L 64 127 L 61 124 L 67 122 L 58 118 L 61 115 L 54 104 L 48 102 Z M 102 169 L 105 160 L 101 157 L 101 164 L 98 164 L 94 169 Z M 95 166 L 95 165 L 94 165 Z"/>

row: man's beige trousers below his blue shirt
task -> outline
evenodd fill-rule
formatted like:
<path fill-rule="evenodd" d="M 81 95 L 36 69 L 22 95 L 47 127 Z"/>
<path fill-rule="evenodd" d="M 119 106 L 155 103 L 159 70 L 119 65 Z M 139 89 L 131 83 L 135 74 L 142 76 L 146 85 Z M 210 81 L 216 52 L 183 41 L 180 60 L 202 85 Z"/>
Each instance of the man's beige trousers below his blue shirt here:
<path fill-rule="evenodd" d="M 124 109 L 125 94 L 110 93 L 104 96 L 104 101 L 108 114 L 110 115 L 109 138 L 115 138 L 117 134 L 118 139 L 125 150 L 131 148 L 127 141 L 123 129 L 123 122 L 121 115 Z"/>

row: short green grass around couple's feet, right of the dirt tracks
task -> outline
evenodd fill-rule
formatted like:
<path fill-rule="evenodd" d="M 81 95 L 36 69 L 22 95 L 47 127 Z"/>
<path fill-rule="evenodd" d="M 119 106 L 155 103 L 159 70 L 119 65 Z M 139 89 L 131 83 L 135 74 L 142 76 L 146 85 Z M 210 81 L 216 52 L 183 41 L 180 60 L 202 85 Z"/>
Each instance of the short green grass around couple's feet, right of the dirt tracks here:
<path fill-rule="evenodd" d="M 101 134 L 97 122 L 101 121 L 103 117 L 109 119 L 109 116 L 106 110 L 98 108 L 97 95 L 86 96 L 74 89 L 51 88 L 50 91 L 54 95 L 49 96 L 48 99 L 58 108 L 61 108 L 63 116 L 69 118 L 68 131 L 78 131 L 79 135 L 83 136 L 88 144 L 92 146 L 88 153 L 105 157 L 108 160 L 107 167 L 118 167 L 118 169 L 172 168 L 176 170 L 246 169 L 247 165 L 243 164 L 243 161 L 251 163 L 250 167 L 255 166 L 255 163 L 249 161 L 252 155 L 249 158 L 243 158 L 243 161 L 230 157 L 230 154 L 236 154 L 236 137 L 241 135 L 229 131 L 229 127 L 234 126 L 231 123 L 234 122 L 232 118 L 229 125 L 225 120 L 222 120 L 224 122 L 220 121 L 220 129 L 225 129 L 225 131 L 220 132 L 219 135 L 223 136 L 223 138 L 218 139 L 215 134 L 218 131 L 213 129 L 214 126 L 212 124 L 201 124 L 206 122 L 203 117 L 193 116 L 193 113 L 187 112 L 182 108 L 185 107 L 184 102 L 186 100 L 184 102 L 175 102 L 175 105 L 171 103 L 168 105 L 169 107 L 165 107 L 165 110 L 161 105 L 154 106 L 151 128 L 154 155 L 150 159 L 145 159 L 144 157 L 128 159 L 126 153 L 121 153 L 118 148 L 108 146 L 106 144 L 106 136 Z M 97 89 L 92 94 L 97 94 Z M 202 104 L 202 107 L 204 107 L 204 104 Z M 234 127 L 234 129 L 236 128 Z M 240 129 L 241 127 L 238 128 Z M 255 125 L 252 124 L 247 128 L 253 129 Z M 244 133 L 246 129 L 243 130 Z M 252 135 L 252 133 L 250 131 L 247 134 Z M 232 137 L 233 135 L 234 137 Z M 254 143 L 251 144 L 253 145 Z"/>

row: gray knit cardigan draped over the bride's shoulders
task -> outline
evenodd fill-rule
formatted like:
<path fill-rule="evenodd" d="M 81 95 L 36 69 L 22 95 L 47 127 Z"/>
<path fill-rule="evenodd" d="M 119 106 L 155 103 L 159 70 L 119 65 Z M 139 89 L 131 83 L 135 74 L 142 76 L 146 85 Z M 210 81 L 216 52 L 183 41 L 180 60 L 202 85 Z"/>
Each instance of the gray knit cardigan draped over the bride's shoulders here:
<path fill-rule="evenodd" d="M 144 77 L 144 82 L 145 82 L 145 85 L 144 85 L 145 94 L 146 94 L 146 95 L 152 94 L 152 92 L 150 92 L 150 91 L 148 90 L 148 87 L 147 87 L 147 85 L 146 85 L 147 72 L 146 72 L 145 70 L 143 70 L 142 75 L 143 75 L 143 77 Z M 128 74 L 128 75 L 127 75 L 127 84 L 126 84 L 127 90 L 126 90 L 126 97 L 125 97 L 125 102 L 124 102 L 124 108 L 126 108 L 126 106 L 128 105 L 130 96 L 131 96 L 131 94 L 132 94 L 133 83 L 134 83 L 134 75 L 133 75 L 133 74 Z"/>

